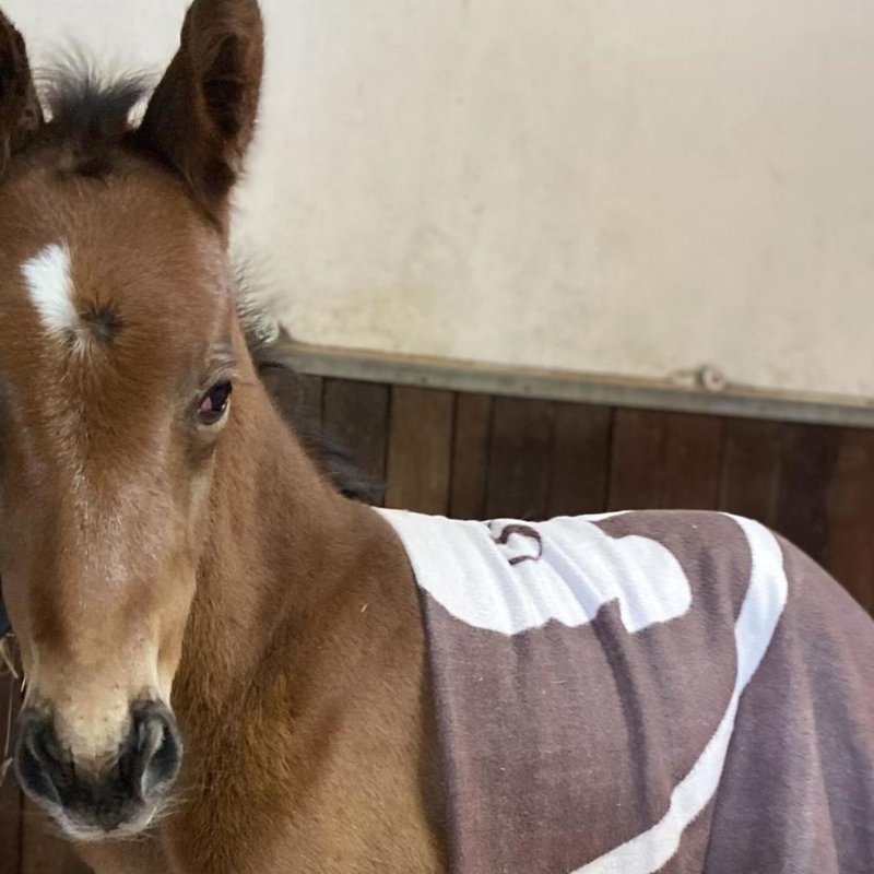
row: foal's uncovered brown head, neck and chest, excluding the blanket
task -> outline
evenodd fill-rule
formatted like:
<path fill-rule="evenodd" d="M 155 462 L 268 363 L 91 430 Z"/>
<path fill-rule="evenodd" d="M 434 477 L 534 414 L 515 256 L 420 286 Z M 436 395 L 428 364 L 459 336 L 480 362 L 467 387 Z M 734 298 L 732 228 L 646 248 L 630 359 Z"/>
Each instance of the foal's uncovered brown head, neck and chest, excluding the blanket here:
<path fill-rule="evenodd" d="M 255 0 L 137 83 L 36 96 L 0 13 L 0 575 L 15 769 L 98 874 L 436 872 L 408 559 L 258 379 L 226 258 Z"/>

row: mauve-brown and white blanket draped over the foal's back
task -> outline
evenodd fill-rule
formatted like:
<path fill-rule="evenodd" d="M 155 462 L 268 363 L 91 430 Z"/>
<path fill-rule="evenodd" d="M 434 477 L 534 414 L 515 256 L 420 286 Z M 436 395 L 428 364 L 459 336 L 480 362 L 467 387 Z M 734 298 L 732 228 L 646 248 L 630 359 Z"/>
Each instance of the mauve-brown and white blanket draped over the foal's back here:
<path fill-rule="evenodd" d="M 383 511 L 462 874 L 872 874 L 874 623 L 760 524 Z"/>

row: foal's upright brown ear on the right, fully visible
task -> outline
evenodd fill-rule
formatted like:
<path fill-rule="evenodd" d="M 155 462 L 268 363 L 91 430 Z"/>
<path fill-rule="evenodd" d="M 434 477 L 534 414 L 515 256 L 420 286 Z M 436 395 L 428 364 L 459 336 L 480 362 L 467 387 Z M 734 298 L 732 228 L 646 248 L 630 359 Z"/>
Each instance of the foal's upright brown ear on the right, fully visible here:
<path fill-rule="evenodd" d="M 194 0 L 138 132 L 223 224 L 255 131 L 263 42 L 257 0 Z"/>

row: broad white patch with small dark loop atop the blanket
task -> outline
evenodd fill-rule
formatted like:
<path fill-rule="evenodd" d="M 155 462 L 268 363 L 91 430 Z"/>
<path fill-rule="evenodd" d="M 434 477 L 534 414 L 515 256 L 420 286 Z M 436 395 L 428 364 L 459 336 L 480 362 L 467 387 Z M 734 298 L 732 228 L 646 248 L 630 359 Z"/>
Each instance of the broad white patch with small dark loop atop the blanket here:
<path fill-rule="evenodd" d="M 692 605 L 692 589 L 673 554 L 649 538 L 611 538 L 592 523 L 606 516 L 530 524 L 380 512 L 400 535 L 418 586 L 476 628 L 515 635 L 550 619 L 574 628 L 618 601 L 623 624 L 635 634 Z M 536 531 L 540 544 L 524 534 L 496 543 L 513 528 Z M 540 560 L 525 560 L 539 550 Z M 510 565 L 508 558 L 521 560 Z"/>

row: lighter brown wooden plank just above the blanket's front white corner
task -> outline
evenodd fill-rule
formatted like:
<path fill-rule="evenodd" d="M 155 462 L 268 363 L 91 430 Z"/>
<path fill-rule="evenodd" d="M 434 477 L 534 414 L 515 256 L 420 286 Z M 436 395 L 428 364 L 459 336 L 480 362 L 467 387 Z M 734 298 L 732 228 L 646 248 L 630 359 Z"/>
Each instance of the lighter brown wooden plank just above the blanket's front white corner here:
<path fill-rule="evenodd" d="M 450 391 L 395 386 L 391 391 L 386 506 L 445 516 L 452 458 Z"/>

